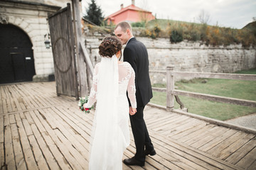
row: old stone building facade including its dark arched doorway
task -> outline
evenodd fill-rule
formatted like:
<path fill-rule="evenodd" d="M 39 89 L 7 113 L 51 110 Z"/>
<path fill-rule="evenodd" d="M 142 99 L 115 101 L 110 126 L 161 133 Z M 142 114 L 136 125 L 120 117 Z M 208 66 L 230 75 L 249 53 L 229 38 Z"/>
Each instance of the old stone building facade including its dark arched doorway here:
<path fill-rule="evenodd" d="M 54 75 L 48 15 L 68 0 L 0 1 L 0 84 L 48 81 Z"/>

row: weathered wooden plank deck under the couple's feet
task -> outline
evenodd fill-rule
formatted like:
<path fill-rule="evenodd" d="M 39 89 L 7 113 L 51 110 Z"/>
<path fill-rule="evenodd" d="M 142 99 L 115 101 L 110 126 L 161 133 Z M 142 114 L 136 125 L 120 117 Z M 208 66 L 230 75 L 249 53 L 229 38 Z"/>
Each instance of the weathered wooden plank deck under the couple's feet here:
<path fill-rule="evenodd" d="M 57 97 L 55 82 L 1 85 L 0 96 L 1 169 L 87 169 L 93 112 Z M 144 118 L 157 154 L 123 169 L 256 169 L 254 134 L 150 106 Z M 124 158 L 134 151 L 132 137 Z"/>

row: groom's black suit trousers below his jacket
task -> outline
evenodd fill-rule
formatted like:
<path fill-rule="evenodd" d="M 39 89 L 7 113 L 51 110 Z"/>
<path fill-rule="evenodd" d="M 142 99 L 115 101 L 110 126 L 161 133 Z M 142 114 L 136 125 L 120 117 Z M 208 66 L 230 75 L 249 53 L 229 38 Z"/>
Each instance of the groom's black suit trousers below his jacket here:
<path fill-rule="evenodd" d="M 143 111 L 144 106 L 138 107 L 137 113 L 135 115 L 130 115 L 132 133 L 134 135 L 134 142 L 136 146 L 135 159 L 140 162 L 145 162 L 145 149 L 154 149 L 149 137 L 149 132 L 146 129 L 146 123 L 143 118 Z"/>

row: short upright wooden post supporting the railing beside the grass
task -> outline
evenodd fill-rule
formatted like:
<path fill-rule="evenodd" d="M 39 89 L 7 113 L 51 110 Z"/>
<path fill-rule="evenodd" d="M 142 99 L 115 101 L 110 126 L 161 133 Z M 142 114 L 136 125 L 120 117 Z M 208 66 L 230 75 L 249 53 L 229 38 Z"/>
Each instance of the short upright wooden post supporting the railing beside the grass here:
<path fill-rule="evenodd" d="M 166 67 L 166 111 L 174 109 L 174 65 Z"/>

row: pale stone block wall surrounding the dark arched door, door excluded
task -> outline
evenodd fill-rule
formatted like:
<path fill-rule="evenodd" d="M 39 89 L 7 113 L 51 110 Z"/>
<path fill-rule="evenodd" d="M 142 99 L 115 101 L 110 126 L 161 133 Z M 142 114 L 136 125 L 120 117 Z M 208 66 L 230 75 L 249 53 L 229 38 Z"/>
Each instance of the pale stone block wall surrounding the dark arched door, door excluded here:
<path fill-rule="evenodd" d="M 46 20 L 48 13 L 55 13 L 59 8 L 18 1 L 1 1 L 0 3 L 1 23 L 21 28 L 32 42 L 36 70 L 34 81 L 48 81 L 49 75 L 54 74 L 52 50 L 46 49 L 44 41 L 45 35 L 49 33 Z"/>

